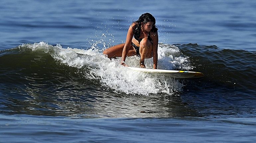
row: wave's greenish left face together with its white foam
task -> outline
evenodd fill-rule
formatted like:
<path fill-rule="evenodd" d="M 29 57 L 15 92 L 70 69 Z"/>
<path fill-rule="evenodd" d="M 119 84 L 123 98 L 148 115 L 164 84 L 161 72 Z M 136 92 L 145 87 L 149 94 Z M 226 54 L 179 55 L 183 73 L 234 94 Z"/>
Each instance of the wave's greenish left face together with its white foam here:
<path fill-rule="evenodd" d="M 36 85 L 37 88 L 77 80 L 115 93 L 132 95 L 174 94 L 184 86 L 179 80 L 131 71 L 120 65 L 120 59 L 108 59 L 95 43 L 90 49 L 63 48 L 46 42 L 23 44 L 1 52 L 1 75 L 5 84 Z M 159 69 L 192 70 L 189 57 L 178 47 L 159 44 Z M 127 64 L 139 67 L 139 57 L 128 57 Z M 147 68 L 153 60 L 146 59 Z"/>

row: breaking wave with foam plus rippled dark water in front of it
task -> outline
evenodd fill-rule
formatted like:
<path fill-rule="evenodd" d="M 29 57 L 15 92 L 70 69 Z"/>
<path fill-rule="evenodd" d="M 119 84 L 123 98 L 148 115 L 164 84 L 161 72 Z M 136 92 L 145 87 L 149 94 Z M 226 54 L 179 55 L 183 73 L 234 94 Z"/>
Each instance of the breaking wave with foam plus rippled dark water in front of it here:
<path fill-rule="evenodd" d="M 1 113 L 116 117 L 118 106 L 124 108 L 119 110 L 122 115 L 129 109 L 132 116 L 138 111 L 137 100 L 147 105 L 142 112 L 158 111 L 161 116 L 165 107 L 177 104 L 172 116 L 182 117 L 180 108 L 189 110 L 189 116 L 255 113 L 255 52 L 159 43 L 158 68 L 205 74 L 172 79 L 130 71 L 120 59 L 106 58 L 102 44 L 76 49 L 40 42 L 0 51 Z M 139 57 L 126 62 L 138 67 Z M 153 67 L 152 59 L 145 62 Z M 95 109 L 102 113 L 94 114 Z"/>

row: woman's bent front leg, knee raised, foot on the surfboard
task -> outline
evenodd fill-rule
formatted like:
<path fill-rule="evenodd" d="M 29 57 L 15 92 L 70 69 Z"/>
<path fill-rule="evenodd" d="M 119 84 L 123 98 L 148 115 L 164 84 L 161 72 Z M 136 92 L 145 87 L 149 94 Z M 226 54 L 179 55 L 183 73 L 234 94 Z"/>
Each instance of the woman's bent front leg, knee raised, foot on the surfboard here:
<path fill-rule="evenodd" d="M 147 38 L 143 38 L 140 41 L 140 67 L 146 68 L 145 66 L 145 58 L 149 59 L 153 57 L 152 54 L 153 45 L 152 42 Z"/>

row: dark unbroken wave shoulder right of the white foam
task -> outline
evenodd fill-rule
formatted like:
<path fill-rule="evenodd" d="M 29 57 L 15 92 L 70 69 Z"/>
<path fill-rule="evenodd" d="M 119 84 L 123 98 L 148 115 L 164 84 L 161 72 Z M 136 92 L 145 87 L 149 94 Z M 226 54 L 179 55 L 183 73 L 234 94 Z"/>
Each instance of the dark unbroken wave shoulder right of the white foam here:
<path fill-rule="evenodd" d="M 255 91 L 256 52 L 246 50 L 220 49 L 215 45 L 199 46 L 197 44 L 176 45 L 190 57 L 200 69 L 208 82 L 222 86 L 242 88 L 244 91 Z M 192 65 L 193 65 L 192 64 Z M 199 70 L 198 69 L 198 70 Z"/>

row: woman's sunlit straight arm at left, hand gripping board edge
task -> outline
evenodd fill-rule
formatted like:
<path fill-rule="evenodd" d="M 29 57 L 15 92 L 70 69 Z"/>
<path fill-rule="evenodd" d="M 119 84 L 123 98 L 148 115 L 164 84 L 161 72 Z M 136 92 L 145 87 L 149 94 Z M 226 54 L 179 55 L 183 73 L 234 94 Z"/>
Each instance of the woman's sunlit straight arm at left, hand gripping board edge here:
<path fill-rule="evenodd" d="M 126 59 L 126 56 L 128 54 L 128 51 L 131 47 L 131 43 L 132 43 L 132 37 L 133 37 L 133 26 L 135 24 L 131 24 L 131 26 L 129 27 L 128 29 L 128 32 L 127 32 L 127 36 L 126 36 L 126 40 L 125 40 L 125 44 L 124 44 L 124 49 L 123 49 L 123 52 L 122 52 L 122 61 L 121 61 L 121 65 L 125 65 L 125 59 Z"/>

